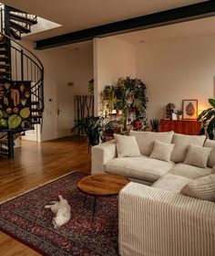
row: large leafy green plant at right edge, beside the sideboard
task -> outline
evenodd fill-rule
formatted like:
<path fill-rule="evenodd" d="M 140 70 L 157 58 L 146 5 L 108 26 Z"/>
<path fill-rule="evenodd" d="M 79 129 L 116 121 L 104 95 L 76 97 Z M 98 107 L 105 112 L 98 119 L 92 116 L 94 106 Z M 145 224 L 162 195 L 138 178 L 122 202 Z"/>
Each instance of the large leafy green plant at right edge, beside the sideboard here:
<path fill-rule="evenodd" d="M 209 99 L 211 108 L 200 113 L 198 120 L 203 123 L 204 131 L 210 140 L 214 139 L 215 130 L 215 99 Z"/>

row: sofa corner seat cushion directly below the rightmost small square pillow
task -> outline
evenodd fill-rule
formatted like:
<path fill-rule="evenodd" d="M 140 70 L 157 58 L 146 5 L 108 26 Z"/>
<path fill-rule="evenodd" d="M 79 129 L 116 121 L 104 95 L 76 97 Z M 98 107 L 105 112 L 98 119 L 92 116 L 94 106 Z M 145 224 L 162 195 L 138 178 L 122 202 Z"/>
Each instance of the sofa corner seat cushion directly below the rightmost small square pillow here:
<path fill-rule="evenodd" d="M 169 171 L 169 174 L 176 175 L 176 176 L 185 176 L 190 179 L 196 179 L 200 176 L 209 176 L 211 172 L 212 172 L 212 169 L 209 167 L 200 168 L 193 165 L 178 164 L 178 165 L 175 165 Z"/>

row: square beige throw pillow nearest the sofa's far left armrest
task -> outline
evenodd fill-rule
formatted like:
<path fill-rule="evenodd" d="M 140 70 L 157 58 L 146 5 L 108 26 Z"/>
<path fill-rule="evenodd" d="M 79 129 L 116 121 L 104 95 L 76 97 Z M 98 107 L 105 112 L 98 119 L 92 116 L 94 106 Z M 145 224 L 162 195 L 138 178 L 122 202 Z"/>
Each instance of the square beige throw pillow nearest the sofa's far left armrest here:
<path fill-rule="evenodd" d="M 135 136 L 114 134 L 118 157 L 139 156 L 140 151 Z"/>

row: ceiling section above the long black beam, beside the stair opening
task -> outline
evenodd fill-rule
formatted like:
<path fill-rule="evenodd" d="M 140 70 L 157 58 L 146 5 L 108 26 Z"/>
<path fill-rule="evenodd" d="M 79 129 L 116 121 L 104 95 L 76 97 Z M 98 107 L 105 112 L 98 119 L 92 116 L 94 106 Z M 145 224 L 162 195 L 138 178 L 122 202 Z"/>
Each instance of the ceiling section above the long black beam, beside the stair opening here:
<path fill-rule="evenodd" d="M 54 37 L 88 27 L 144 16 L 159 11 L 191 5 L 198 0 L 2 0 L 5 5 L 14 6 L 29 14 L 41 16 L 62 27 L 28 36 L 38 40 Z"/>

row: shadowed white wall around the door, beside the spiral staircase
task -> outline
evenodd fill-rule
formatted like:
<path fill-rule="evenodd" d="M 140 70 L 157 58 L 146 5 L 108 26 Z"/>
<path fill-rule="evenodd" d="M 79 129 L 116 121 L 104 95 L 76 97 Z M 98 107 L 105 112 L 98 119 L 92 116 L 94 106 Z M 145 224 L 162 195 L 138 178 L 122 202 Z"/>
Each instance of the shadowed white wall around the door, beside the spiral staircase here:
<path fill-rule="evenodd" d="M 30 41 L 22 40 L 22 44 L 33 49 Z M 56 138 L 56 84 L 73 82 L 74 95 L 87 94 L 88 80 L 93 78 L 93 50 L 52 48 L 34 50 L 34 53 L 45 69 L 45 112 L 41 140 L 52 140 Z"/>

